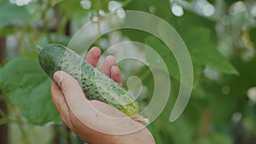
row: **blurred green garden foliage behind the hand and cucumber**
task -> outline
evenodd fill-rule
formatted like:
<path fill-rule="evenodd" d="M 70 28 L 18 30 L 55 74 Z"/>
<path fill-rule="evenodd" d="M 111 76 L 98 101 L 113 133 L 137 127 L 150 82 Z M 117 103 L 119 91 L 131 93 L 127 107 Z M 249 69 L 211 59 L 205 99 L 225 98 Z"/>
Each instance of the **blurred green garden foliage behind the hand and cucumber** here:
<path fill-rule="evenodd" d="M 165 60 L 172 80 L 169 101 L 148 125 L 158 144 L 256 143 L 256 2 L 254 0 L 0 0 L 0 143 L 69 144 L 79 141 L 63 124 L 49 95 L 49 78 L 38 65 L 37 45 L 67 45 L 86 22 L 139 10 L 166 20 L 189 49 L 194 85 L 189 105 L 175 122 L 169 117 L 179 90 L 172 52 L 160 39 L 138 30 L 118 30 L 93 45 L 102 52 L 128 40 L 145 43 Z M 113 20 L 113 25 L 119 25 Z M 85 35 L 87 33 L 84 33 Z M 89 34 L 89 33 L 88 33 Z M 134 47 L 132 45 L 127 46 Z M 142 51 L 129 50 L 133 55 Z M 126 80 L 143 83 L 147 106 L 154 93 L 148 66 L 120 62 Z"/>

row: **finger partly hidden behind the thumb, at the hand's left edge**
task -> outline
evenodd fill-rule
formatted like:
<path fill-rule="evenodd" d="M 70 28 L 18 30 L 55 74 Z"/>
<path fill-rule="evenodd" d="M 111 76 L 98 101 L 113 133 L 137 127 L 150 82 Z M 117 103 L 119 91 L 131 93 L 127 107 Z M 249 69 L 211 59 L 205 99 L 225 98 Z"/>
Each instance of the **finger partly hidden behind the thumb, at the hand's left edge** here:
<path fill-rule="evenodd" d="M 67 103 L 64 99 L 64 95 L 61 89 L 55 84 L 55 82 L 51 82 L 50 89 L 51 89 L 50 91 L 51 91 L 52 100 L 55 104 L 57 111 L 60 113 L 61 120 L 67 126 L 71 126 L 72 124 L 70 123 L 70 119 L 69 119 Z"/>

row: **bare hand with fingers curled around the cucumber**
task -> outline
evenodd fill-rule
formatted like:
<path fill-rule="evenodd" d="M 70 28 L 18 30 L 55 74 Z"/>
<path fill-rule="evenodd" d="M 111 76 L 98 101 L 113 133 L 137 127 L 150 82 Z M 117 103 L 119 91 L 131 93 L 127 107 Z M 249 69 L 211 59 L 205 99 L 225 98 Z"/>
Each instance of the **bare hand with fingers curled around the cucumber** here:
<path fill-rule="evenodd" d="M 100 56 L 101 50 L 94 47 L 90 49 L 85 60 L 90 65 L 96 66 Z M 116 83 L 122 84 L 121 72 L 113 56 L 109 55 L 103 61 L 100 70 Z M 55 72 L 54 79 L 58 84 L 54 82 L 51 84 L 51 96 L 55 107 L 60 112 L 63 123 L 83 141 L 90 144 L 155 143 L 153 136 L 143 124 L 131 118 L 125 118 L 123 112 L 101 101 L 88 101 L 78 81 L 66 72 Z M 108 118 L 106 115 L 114 118 Z M 124 135 L 111 134 L 114 130 L 130 130 L 131 128 L 139 130 Z"/>

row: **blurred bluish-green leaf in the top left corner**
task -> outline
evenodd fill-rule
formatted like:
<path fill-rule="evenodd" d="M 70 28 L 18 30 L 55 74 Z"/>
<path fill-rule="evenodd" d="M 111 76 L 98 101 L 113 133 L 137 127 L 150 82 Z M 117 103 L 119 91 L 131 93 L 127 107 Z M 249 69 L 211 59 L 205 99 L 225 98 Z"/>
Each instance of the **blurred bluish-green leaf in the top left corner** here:
<path fill-rule="evenodd" d="M 0 29 L 11 23 L 25 22 L 31 17 L 32 15 L 24 6 L 17 6 L 9 3 L 9 1 L 0 2 Z"/>

